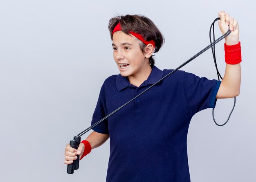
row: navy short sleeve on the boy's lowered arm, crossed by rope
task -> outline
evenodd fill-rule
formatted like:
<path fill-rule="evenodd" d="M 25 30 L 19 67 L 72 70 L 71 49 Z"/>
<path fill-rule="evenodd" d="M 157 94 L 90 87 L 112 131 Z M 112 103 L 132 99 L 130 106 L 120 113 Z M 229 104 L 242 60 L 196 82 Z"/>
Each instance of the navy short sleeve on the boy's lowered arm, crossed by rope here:
<path fill-rule="evenodd" d="M 106 108 L 106 97 L 105 97 L 105 90 L 104 90 L 104 84 L 101 87 L 101 91 L 99 94 L 99 99 L 97 101 L 96 108 L 94 110 L 94 113 L 92 115 L 92 123 L 91 125 L 94 125 L 98 121 L 100 121 L 102 118 L 104 118 L 107 115 L 107 108 Z M 108 134 L 108 121 L 107 119 L 96 125 L 92 128 L 95 132 L 102 133 L 102 134 Z"/>

